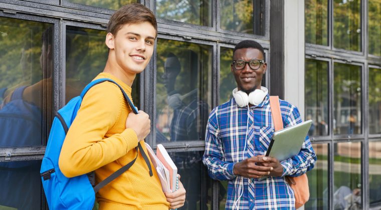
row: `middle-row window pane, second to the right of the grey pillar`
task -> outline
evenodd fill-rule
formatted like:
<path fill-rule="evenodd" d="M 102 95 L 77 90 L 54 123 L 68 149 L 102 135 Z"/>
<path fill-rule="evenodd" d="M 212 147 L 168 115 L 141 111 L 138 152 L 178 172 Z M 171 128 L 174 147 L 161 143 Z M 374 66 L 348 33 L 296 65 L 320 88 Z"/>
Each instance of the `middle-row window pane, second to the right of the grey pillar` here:
<path fill-rule="evenodd" d="M 361 133 L 361 66 L 334 63 L 333 132 Z"/>

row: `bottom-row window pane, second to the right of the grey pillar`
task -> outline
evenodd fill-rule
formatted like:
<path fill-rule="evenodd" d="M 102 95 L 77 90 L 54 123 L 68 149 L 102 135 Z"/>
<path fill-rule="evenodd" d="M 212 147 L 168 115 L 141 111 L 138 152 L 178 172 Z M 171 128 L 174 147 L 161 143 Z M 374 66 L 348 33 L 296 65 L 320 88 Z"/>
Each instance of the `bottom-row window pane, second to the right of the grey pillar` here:
<path fill-rule="evenodd" d="M 361 142 L 334 144 L 333 208 L 361 209 Z"/>

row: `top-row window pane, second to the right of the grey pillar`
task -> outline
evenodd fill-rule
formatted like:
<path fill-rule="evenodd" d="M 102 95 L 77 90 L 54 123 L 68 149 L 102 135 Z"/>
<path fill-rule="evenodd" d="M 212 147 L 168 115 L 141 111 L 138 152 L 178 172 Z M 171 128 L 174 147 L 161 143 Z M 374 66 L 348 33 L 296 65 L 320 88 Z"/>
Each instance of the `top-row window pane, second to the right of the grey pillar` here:
<path fill-rule="evenodd" d="M 334 0 L 333 46 L 347 50 L 361 50 L 360 0 Z M 378 39 L 379 40 L 379 39 Z"/>

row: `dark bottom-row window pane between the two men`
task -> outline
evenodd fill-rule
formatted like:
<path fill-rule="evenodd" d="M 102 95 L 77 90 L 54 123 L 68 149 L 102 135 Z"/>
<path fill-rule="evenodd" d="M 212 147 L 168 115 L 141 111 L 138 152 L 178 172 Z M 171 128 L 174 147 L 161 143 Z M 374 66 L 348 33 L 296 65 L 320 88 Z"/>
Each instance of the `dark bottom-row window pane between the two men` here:
<path fill-rule="evenodd" d="M 212 209 L 212 180 L 202 157 L 204 151 L 170 152 L 186 190 L 184 206 L 178 210 Z M 206 194 L 205 194 L 206 193 Z"/>

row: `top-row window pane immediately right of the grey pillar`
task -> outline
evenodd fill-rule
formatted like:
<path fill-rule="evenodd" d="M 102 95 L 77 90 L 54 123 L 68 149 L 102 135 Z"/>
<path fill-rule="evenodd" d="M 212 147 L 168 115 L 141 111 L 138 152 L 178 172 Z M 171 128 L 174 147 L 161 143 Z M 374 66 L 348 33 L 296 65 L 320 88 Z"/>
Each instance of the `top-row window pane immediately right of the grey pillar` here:
<path fill-rule="evenodd" d="M 304 7 L 306 42 L 328 45 L 328 0 L 306 0 Z"/>

